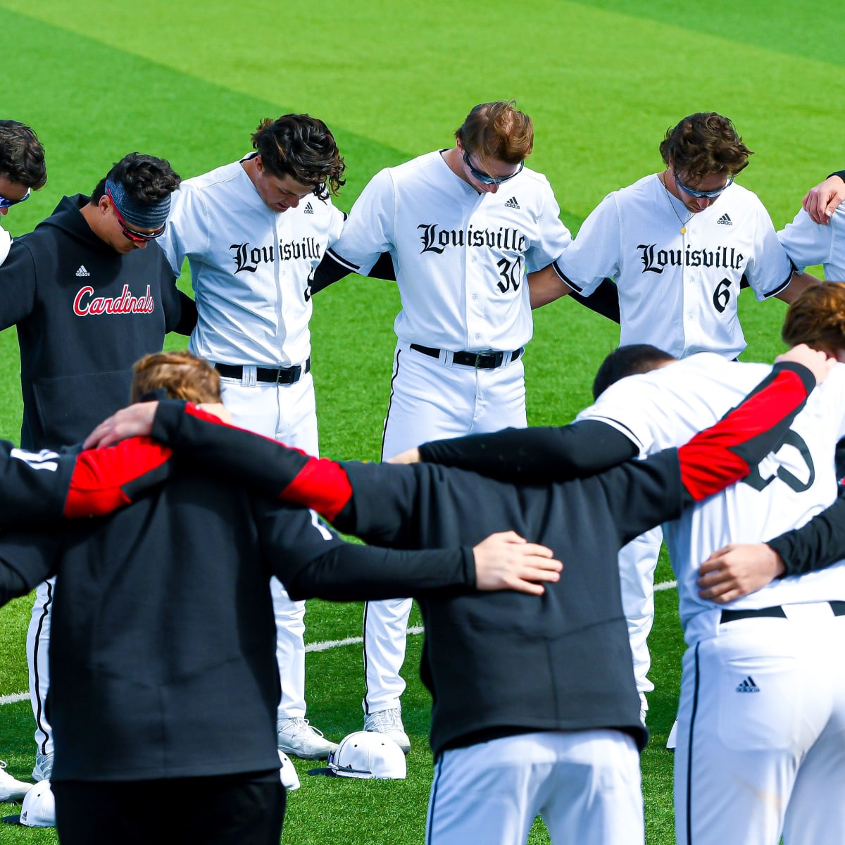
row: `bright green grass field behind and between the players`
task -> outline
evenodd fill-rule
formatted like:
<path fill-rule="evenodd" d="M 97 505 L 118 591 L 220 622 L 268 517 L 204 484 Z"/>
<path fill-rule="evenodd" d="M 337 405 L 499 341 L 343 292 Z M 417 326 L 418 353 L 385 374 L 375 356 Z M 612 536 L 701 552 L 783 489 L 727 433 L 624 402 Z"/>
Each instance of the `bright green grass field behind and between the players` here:
<path fill-rule="evenodd" d="M 830 4 L 0 0 L 0 31 L 0 116 L 36 129 L 49 170 L 46 188 L 3 218 L 13 234 L 30 231 L 63 194 L 90 192 L 131 150 L 166 157 L 190 177 L 243 155 L 261 118 L 292 111 L 334 130 L 348 166 L 337 200 L 344 210 L 381 167 L 449 146 L 473 105 L 501 98 L 515 98 L 534 117 L 529 163 L 548 176 L 573 232 L 609 191 L 660 168 L 662 135 L 690 112 L 733 118 L 755 150 L 739 181 L 760 195 L 778 228 L 807 188 L 843 166 L 837 104 L 845 93 L 845 17 Z M 315 299 L 313 372 L 326 455 L 379 455 L 398 307 L 395 286 L 357 277 Z M 782 313 L 780 302 L 743 294 L 744 359 L 782 351 Z M 538 312 L 525 358 L 530 422 L 570 421 L 590 401 L 592 375 L 618 341 L 618 327 L 575 303 Z M 168 346 L 184 340 L 170 337 Z M 0 333 L 0 362 L 0 435 L 17 440 L 14 330 Z M 670 577 L 664 561 L 657 580 Z M 675 601 L 674 591 L 658 592 L 651 635 L 657 690 L 642 765 L 652 845 L 674 842 L 672 756 L 663 745 L 683 648 Z M 24 598 L 0 610 L 0 701 L 27 689 L 30 605 Z M 360 635 L 360 607 L 309 607 L 309 642 Z M 410 639 L 405 670 L 408 779 L 311 778 L 309 765 L 297 763 L 303 788 L 290 796 L 283 842 L 423 842 L 431 755 L 420 641 Z M 360 728 L 362 695 L 360 646 L 309 655 L 308 716 L 331 739 Z M 26 778 L 33 764 L 31 737 L 28 700 L 0 706 L 0 757 L 16 777 Z M 6 812 L 14 809 L 0 807 Z M 57 838 L 52 830 L 3 827 L 0 841 Z M 542 826 L 531 842 L 548 842 Z"/>

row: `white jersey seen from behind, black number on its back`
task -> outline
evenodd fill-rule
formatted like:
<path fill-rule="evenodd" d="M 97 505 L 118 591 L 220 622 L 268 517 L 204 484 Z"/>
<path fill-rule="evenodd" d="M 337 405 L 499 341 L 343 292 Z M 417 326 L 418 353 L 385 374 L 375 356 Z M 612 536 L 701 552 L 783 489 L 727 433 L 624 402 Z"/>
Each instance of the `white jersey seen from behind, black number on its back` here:
<path fill-rule="evenodd" d="M 700 354 L 666 367 L 621 379 L 584 417 L 601 420 L 651 454 L 684 444 L 717 422 L 766 377 L 767 364 L 725 361 Z M 578 417 L 581 419 L 581 415 Z M 788 438 L 750 476 L 684 511 L 663 526 L 678 579 L 679 613 L 689 644 L 708 635 L 717 606 L 698 596 L 698 567 L 728 542 L 765 542 L 804 525 L 837 494 L 834 449 L 845 435 L 845 365 L 810 395 Z M 724 607 L 767 608 L 778 604 L 845 600 L 845 562 L 807 575 L 772 581 Z M 702 613 L 707 612 L 707 613 Z"/>

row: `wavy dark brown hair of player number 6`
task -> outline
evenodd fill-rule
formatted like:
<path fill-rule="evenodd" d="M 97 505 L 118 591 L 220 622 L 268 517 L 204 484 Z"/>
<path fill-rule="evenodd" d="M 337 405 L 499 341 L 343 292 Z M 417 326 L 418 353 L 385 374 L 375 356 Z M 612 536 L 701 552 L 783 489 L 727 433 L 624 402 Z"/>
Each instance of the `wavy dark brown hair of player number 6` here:
<path fill-rule="evenodd" d="M 727 117 L 716 112 L 698 112 L 667 129 L 660 155 L 665 164 L 672 159 L 676 173 L 699 182 L 711 173 L 736 176 L 748 166 L 748 158 L 754 153 L 743 144 Z"/>

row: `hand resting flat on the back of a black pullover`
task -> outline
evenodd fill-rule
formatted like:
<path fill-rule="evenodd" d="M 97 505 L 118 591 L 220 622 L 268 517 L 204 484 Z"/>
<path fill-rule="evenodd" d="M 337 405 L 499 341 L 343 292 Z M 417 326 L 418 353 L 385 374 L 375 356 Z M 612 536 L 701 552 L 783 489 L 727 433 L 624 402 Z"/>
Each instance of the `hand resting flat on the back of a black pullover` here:
<path fill-rule="evenodd" d="M 472 549 L 478 590 L 515 590 L 542 596 L 542 581 L 559 581 L 564 568 L 552 549 L 516 532 L 491 534 Z"/>

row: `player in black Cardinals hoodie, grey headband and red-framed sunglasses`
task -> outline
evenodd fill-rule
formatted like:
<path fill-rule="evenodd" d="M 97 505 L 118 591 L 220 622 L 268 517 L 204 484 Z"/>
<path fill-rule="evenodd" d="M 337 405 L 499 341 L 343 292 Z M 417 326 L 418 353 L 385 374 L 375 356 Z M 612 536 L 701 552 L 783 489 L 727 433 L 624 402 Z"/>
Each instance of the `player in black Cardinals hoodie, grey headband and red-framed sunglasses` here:
<path fill-rule="evenodd" d="M 0 267 L 0 328 L 18 329 L 23 448 L 78 442 L 125 404 L 141 355 L 160 350 L 167 332 L 194 327 L 194 301 L 154 243 L 178 184 L 167 161 L 130 153 L 90 197 L 64 197 L 12 244 Z M 27 634 L 36 780 L 52 767 L 44 712 L 52 597 L 52 581 L 38 587 Z"/>

